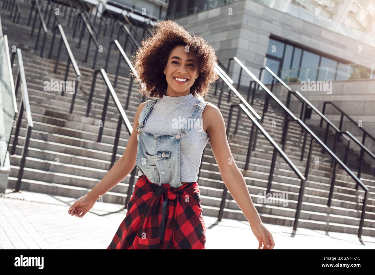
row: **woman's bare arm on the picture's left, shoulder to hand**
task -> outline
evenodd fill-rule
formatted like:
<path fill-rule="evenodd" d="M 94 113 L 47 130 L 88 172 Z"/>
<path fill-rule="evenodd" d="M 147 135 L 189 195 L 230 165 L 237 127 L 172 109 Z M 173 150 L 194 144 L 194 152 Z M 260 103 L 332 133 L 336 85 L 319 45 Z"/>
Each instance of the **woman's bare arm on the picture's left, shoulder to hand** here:
<path fill-rule="evenodd" d="M 137 147 L 138 147 L 138 140 L 137 140 L 137 130 L 136 127 L 138 127 L 138 117 L 141 113 L 143 107 L 145 106 L 146 102 L 143 102 L 139 104 L 135 117 L 134 117 L 134 123 L 133 123 L 133 131 L 130 135 L 129 141 L 126 144 L 125 152 L 121 156 L 121 158 L 112 166 L 110 171 L 104 176 L 104 178 L 96 184 L 96 186 L 90 190 L 87 195 L 81 197 L 85 198 L 84 201 L 89 202 L 89 205 L 87 207 L 84 207 L 82 205 L 82 201 L 80 202 L 80 199 L 77 199 L 77 201 L 74 202 L 74 204 L 69 208 L 68 213 L 72 216 L 74 216 L 75 213 L 81 213 L 82 215 L 76 215 L 77 217 L 83 217 L 84 214 L 86 214 L 92 206 L 95 204 L 95 202 L 101 197 L 104 196 L 105 193 L 107 193 L 109 190 L 111 190 L 114 186 L 116 186 L 120 181 L 122 181 L 134 168 L 135 161 L 136 161 L 136 153 L 137 153 Z M 81 207 L 81 208 L 80 208 Z M 78 208 L 75 209 L 75 208 Z M 87 209 L 90 208 L 90 209 Z"/>

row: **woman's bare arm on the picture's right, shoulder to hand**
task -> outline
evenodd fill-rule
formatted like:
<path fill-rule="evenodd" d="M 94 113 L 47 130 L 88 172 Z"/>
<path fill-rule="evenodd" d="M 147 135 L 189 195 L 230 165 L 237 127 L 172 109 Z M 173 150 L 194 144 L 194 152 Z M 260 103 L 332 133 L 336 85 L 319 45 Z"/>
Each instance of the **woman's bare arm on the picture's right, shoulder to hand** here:
<path fill-rule="evenodd" d="M 245 178 L 237 167 L 236 162 L 234 162 L 229 148 L 228 139 L 226 137 L 223 116 L 216 106 L 213 104 L 207 104 L 202 113 L 202 120 L 207 126 L 206 132 L 223 182 L 228 188 L 229 193 L 231 193 L 232 197 L 239 205 L 246 219 L 249 221 L 254 235 L 257 237 L 258 241 L 260 241 L 258 237 L 259 235 L 263 235 L 261 232 L 264 231 L 265 227 L 252 202 Z M 257 231 L 259 234 L 257 234 Z M 269 232 L 267 232 L 267 234 L 268 233 Z M 273 243 L 272 235 L 270 236 L 271 237 L 267 236 L 266 239 L 262 239 L 265 245 L 270 243 L 270 249 L 272 249 L 275 244 Z M 272 241 L 270 241 L 271 239 Z"/>

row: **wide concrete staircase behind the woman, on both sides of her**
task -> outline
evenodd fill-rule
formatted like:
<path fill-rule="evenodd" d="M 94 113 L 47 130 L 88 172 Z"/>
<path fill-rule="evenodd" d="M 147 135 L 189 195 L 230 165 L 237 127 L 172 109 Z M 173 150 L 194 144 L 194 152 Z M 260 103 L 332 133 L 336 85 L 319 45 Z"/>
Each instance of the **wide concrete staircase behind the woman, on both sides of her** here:
<path fill-rule="evenodd" d="M 21 9 L 26 10 L 27 7 L 30 7 L 29 4 L 23 1 L 20 1 L 20 4 Z M 23 50 L 27 88 L 34 121 L 21 189 L 74 198 L 83 196 L 104 177 L 109 169 L 118 119 L 117 109 L 110 100 L 102 142 L 96 142 L 106 88 L 104 81 L 98 77 L 90 116 L 86 117 L 87 99 L 93 76 L 91 63 L 85 63 L 81 60 L 82 56 L 86 53 L 87 40 L 82 41 L 81 49 L 76 48 L 74 43 L 78 44 L 78 42 L 71 39 L 72 29 L 63 26 L 73 54 L 77 59 L 81 74 L 83 75 L 80 89 L 77 91 L 74 111 L 72 114 L 69 114 L 72 95 L 66 93 L 65 96 L 61 96 L 59 92 L 44 91 L 45 81 L 49 81 L 51 78 L 54 80 L 63 80 L 66 60 L 68 58 L 66 55 L 64 56 L 65 50 L 62 51 L 57 73 L 54 74 L 55 55 L 52 55 L 51 59 L 40 58 L 39 51 L 35 52 L 33 50 L 36 35 L 30 38 L 31 28 L 25 24 L 27 18 L 22 17 L 26 15 L 21 15 L 20 24 L 14 24 L 10 21 L 7 14 L 9 13 L 1 13 L 3 32 L 8 35 L 10 48 L 12 45 L 16 45 Z M 51 43 L 51 34 L 47 37 L 48 43 Z M 121 45 L 123 45 L 123 41 L 121 41 Z M 55 48 L 57 48 L 56 42 Z M 46 49 L 49 49 L 49 47 Z M 44 56 L 47 56 L 47 54 Z M 92 56 L 90 55 L 90 58 Z M 98 58 L 99 56 L 100 59 L 98 59 L 97 68 L 104 67 L 107 55 L 103 51 L 102 56 L 98 55 Z M 115 71 L 117 58 L 117 53 L 111 56 L 110 67 L 107 71 L 112 83 L 114 75 L 111 73 Z M 123 105 L 126 102 L 128 92 L 130 92 L 130 103 L 128 110 L 126 110 L 126 115 L 130 122 L 133 123 L 136 108 L 142 99 L 137 94 L 136 85 L 133 85 L 132 90 L 129 91 L 129 77 L 127 76 L 127 68 L 124 62 L 122 62 L 122 69 L 123 71 L 118 78 L 118 85 L 115 91 Z M 17 70 L 17 65 L 13 70 Z M 75 74 L 71 68 L 68 80 L 74 79 Z M 214 86 L 205 100 L 217 106 L 219 94 L 215 96 L 213 91 Z M 226 122 L 228 121 L 230 105 L 239 103 L 239 100 L 235 96 L 232 96 L 231 102 L 227 103 L 227 95 L 227 89 L 224 89 L 220 111 Z M 19 100 L 20 98 L 18 98 L 18 102 Z M 255 100 L 252 107 L 261 114 L 263 100 Z M 261 134 L 258 135 L 257 146 L 252 152 L 248 169 L 245 170 L 245 158 L 252 125 L 250 120 L 242 114 L 239 129 L 237 134 L 234 135 L 234 122 L 236 118 L 237 111 L 234 112 L 232 123 L 229 125 L 230 135 L 228 141 L 236 164 L 245 177 L 249 192 L 261 215 L 262 221 L 264 223 L 293 226 L 300 180 L 289 166 L 285 164 L 284 160 L 278 156 L 275 170 L 273 171 L 274 176 L 271 192 L 283 193 L 287 197 L 282 200 L 282 203 L 258 203 L 258 199 L 263 198 L 263 195 L 259 195 L 259 193 L 263 194 L 267 189 L 273 147 Z M 276 122 L 276 127 L 273 127 L 273 120 Z M 263 127 L 279 144 L 281 142 L 283 121 L 284 115 L 282 112 L 276 106 L 269 107 Z M 314 131 L 319 136 L 322 136 L 324 132 L 320 128 L 314 128 Z M 9 177 L 8 188 L 15 187 L 25 133 L 26 120 L 22 122 L 16 153 L 15 155 L 11 155 L 12 171 Z M 304 173 L 310 138 L 308 137 L 305 158 L 303 161 L 300 161 L 302 149 L 301 137 L 302 134 L 299 126 L 296 123 L 290 123 L 285 153 L 297 168 Z M 117 150 L 117 159 L 124 152 L 128 138 L 129 135 L 123 125 Z M 332 138 L 329 140 L 328 146 L 332 148 Z M 340 153 L 339 156 L 342 155 L 344 149 L 345 145 L 339 143 L 337 149 L 337 152 Z M 354 152 L 351 152 L 351 156 L 348 160 L 348 166 L 355 168 L 358 156 Z M 318 160 L 319 164 L 316 164 L 315 160 Z M 204 209 L 203 213 L 205 216 L 217 217 L 224 185 L 209 143 L 204 151 L 202 161 L 199 189 L 202 198 L 201 204 Z M 367 165 L 363 168 L 364 171 L 361 176 L 363 183 L 370 189 L 363 235 L 375 236 L 375 179 L 373 175 L 369 174 L 370 169 L 368 167 Z M 355 190 L 355 183 L 352 178 L 341 168 L 338 168 L 332 206 L 327 207 L 331 177 L 330 156 L 327 154 L 323 155 L 321 148 L 315 143 L 312 152 L 312 161 L 310 162 L 309 177 L 304 190 L 299 227 L 356 234 L 358 232 L 362 208 L 358 196 L 363 196 L 364 192 L 361 188 L 358 191 Z M 127 175 L 121 183 L 117 184 L 117 186 L 103 197 L 103 201 L 124 204 L 129 180 L 130 175 Z M 246 220 L 229 193 L 223 217 Z"/>

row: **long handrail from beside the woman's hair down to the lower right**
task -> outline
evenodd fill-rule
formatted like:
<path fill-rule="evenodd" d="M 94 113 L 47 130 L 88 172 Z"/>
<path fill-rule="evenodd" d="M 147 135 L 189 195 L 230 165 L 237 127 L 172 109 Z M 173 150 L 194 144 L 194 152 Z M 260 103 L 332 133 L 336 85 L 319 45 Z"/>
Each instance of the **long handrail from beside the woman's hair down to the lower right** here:
<path fill-rule="evenodd" d="M 279 106 L 284 109 L 285 111 L 285 121 L 284 121 L 284 128 L 283 128 L 283 132 L 282 132 L 282 140 L 281 140 L 281 143 L 284 144 L 285 143 L 285 140 L 286 140 L 286 136 L 287 136 L 287 130 L 288 130 L 288 123 L 289 123 L 289 118 L 288 118 L 288 115 L 292 117 L 292 121 L 294 120 L 295 122 L 297 122 L 305 131 L 307 131 L 310 135 L 311 135 L 311 140 L 315 139 L 320 145 L 321 147 L 323 147 L 324 150 L 327 150 L 327 152 L 329 153 L 329 155 L 334 159 L 334 162 L 333 162 L 333 173 L 332 173 L 332 180 L 331 180 L 331 187 L 330 187 L 330 194 L 329 194 L 329 199 L 328 199 L 328 203 L 327 203 L 327 206 L 331 206 L 331 202 L 332 202 L 332 196 L 333 196 L 333 188 L 335 186 L 335 179 L 336 179 L 336 163 L 338 163 L 350 176 L 351 178 L 353 178 L 353 180 L 362 187 L 362 189 L 365 191 L 365 201 L 363 201 L 363 208 L 362 208 L 362 215 L 361 215 L 361 220 L 360 220 L 360 226 L 359 226 L 359 230 L 358 230 L 358 236 L 360 237 L 362 235 L 362 227 L 363 227 L 363 221 L 364 221 L 364 217 L 365 217 L 365 207 L 366 207 L 366 202 L 367 202 L 367 195 L 368 195 L 368 188 L 362 183 L 362 181 L 356 177 L 356 175 L 353 174 L 353 172 L 327 147 L 327 145 L 325 143 L 323 143 L 320 138 L 317 137 L 317 135 L 315 135 L 314 132 L 311 131 L 311 129 L 299 118 L 297 118 L 296 116 L 294 116 L 294 114 L 287 108 L 285 107 L 285 105 L 278 99 L 276 98 L 276 96 L 274 94 L 272 94 L 272 92 L 253 74 L 251 73 L 251 71 L 248 70 L 248 68 L 246 68 L 245 65 L 242 64 L 241 61 L 239 61 L 239 59 L 237 57 L 234 57 L 233 60 L 235 60 L 240 66 L 241 66 L 241 70 L 245 70 L 246 73 L 249 74 L 249 76 L 254 79 L 258 85 L 260 85 L 269 95 L 270 97 L 272 97 L 278 104 Z M 229 67 L 228 67 L 229 69 Z M 297 91 L 296 91 L 297 93 Z M 307 134 L 306 132 L 306 134 Z M 302 152 L 303 153 L 303 152 Z M 309 161 L 309 160 L 308 160 Z M 308 178 L 308 174 L 305 174 L 305 177 Z M 302 199 L 302 197 L 300 196 L 299 197 L 299 201 L 300 199 Z M 297 208 L 297 211 L 300 211 L 300 208 Z M 295 220 L 295 228 L 297 228 L 297 223 L 298 223 L 298 220 Z"/>

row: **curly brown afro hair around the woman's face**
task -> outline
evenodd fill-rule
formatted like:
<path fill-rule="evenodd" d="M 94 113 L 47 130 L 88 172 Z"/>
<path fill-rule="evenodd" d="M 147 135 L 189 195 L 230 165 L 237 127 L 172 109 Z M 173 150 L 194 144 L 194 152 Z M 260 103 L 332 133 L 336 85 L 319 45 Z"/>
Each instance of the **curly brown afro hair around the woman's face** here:
<path fill-rule="evenodd" d="M 140 86 L 140 94 L 162 98 L 168 83 L 163 70 L 168 57 L 176 46 L 188 46 L 189 54 L 197 61 L 198 78 L 190 87 L 190 94 L 204 97 L 211 86 L 219 79 L 214 70 L 217 57 L 214 49 L 201 36 L 189 33 L 172 20 L 157 22 L 152 28 L 153 36 L 144 39 L 134 55 L 132 64 L 138 78 L 130 72 Z"/>

